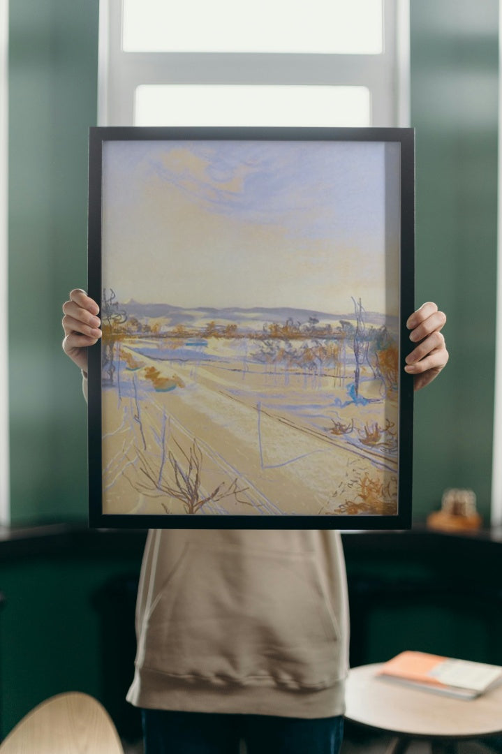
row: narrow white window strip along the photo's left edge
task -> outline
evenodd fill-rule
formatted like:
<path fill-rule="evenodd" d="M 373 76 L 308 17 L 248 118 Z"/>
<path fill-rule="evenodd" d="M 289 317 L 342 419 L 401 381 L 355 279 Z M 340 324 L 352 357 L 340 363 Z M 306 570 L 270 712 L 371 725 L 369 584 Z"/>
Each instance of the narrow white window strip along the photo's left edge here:
<path fill-rule="evenodd" d="M 11 522 L 8 397 L 8 0 L 0 0 L 0 525 Z"/>

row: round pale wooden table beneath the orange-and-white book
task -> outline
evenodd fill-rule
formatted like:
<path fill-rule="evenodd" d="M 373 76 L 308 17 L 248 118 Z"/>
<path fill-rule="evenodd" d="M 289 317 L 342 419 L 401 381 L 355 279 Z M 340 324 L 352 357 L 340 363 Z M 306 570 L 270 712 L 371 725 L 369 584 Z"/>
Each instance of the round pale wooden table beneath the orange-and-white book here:
<path fill-rule="evenodd" d="M 387 754 L 403 752 L 412 739 L 430 740 L 433 751 L 455 749 L 455 740 L 500 734 L 502 685 L 476 699 L 455 699 L 377 676 L 381 664 L 350 670 L 345 717 L 393 734 Z"/>

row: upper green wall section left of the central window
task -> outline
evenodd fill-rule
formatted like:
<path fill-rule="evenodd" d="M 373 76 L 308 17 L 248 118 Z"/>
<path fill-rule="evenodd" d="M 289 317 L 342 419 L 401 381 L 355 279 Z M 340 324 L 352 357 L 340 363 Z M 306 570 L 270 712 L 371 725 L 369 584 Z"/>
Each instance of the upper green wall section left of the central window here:
<path fill-rule="evenodd" d="M 9 60 L 12 523 L 87 510 L 86 409 L 61 305 L 86 287 L 98 0 L 14 0 Z"/>

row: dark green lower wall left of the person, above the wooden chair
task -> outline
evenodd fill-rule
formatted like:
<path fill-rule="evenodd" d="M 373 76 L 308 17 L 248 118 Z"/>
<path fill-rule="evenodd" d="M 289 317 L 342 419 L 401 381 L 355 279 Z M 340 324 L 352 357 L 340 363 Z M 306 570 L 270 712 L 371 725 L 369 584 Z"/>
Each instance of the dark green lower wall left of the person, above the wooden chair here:
<path fill-rule="evenodd" d="M 124 609 L 110 590 L 117 578 L 137 577 L 140 556 L 136 547 L 109 554 L 71 547 L 0 561 L 0 739 L 64 691 L 98 698 L 118 724 L 117 706 L 133 676 L 133 602 Z"/>

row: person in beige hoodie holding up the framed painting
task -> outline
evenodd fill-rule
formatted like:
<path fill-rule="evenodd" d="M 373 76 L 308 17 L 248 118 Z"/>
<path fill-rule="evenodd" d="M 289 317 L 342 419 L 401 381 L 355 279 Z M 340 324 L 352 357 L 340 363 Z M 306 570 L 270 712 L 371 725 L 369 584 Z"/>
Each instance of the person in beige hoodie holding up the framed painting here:
<path fill-rule="evenodd" d="M 81 369 L 101 337 L 99 306 L 75 289 L 63 351 Z M 415 391 L 448 361 L 433 302 L 409 319 Z M 337 754 L 348 670 L 339 532 L 148 532 L 136 603 L 136 671 L 145 754 Z"/>

